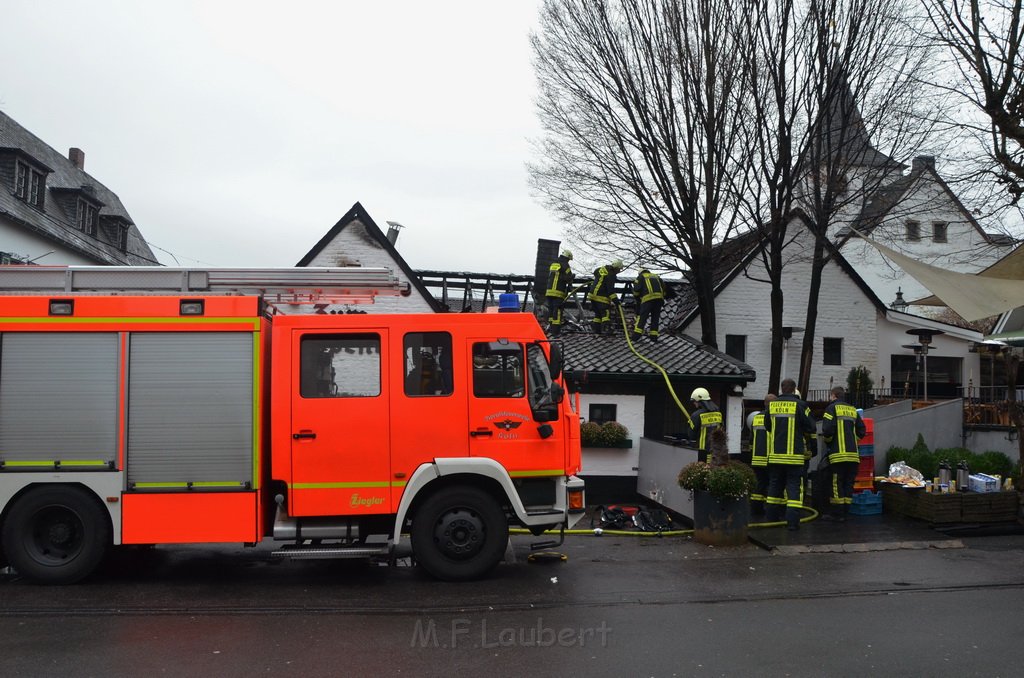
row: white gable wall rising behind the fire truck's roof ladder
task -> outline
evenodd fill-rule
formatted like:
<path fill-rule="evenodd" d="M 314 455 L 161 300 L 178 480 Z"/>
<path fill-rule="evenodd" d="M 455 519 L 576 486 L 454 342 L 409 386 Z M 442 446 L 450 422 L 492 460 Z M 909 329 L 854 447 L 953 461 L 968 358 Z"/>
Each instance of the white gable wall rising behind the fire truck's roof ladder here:
<path fill-rule="evenodd" d="M 341 232 L 321 250 L 310 266 L 367 266 L 390 268 L 391 272 L 402 283 L 411 283 L 409 277 L 395 265 L 391 254 L 380 246 L 367 232 L 366 226 L 353 221 L 341 229 Z M 413 288 L 408 297 L 378 297 L 372 304 L 359 304 L 358 310 L 368 313 L 431 313 L 433 309 L 429 302 Z"/>

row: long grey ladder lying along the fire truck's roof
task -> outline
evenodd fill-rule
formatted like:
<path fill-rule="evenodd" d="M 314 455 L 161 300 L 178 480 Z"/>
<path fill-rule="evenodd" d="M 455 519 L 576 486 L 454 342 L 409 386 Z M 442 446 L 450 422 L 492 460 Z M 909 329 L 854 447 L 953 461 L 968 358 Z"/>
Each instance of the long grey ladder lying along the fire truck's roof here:
<path fill-rule="evenodd" d="M 390 269 L 359 266 L 0 266 L 0 294 L 257 295 L 271 304 L 358 304 L 409 293 Z"/>

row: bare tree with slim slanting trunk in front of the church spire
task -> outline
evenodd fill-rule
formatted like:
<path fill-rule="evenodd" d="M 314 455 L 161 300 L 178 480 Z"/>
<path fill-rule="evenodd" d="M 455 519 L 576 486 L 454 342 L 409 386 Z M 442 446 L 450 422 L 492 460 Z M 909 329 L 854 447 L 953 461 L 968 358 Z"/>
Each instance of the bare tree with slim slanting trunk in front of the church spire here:
<path fill-rule="evenodd" d="M 822 271 L 829 236 L 849 225 L 879 188 L 898 176 L 905 157 L 931 129 L 916 110 L 929 51 L 903 0 L 808 0 L 805 62 L 813 86 L 804 108 L 812 121 L 799 202 L 814 234 L 799 387 L 814 364 Z M 873 141 L 872 141 L 873 138 Z M 878 151 L 885 147 L 887 153 Z"/>

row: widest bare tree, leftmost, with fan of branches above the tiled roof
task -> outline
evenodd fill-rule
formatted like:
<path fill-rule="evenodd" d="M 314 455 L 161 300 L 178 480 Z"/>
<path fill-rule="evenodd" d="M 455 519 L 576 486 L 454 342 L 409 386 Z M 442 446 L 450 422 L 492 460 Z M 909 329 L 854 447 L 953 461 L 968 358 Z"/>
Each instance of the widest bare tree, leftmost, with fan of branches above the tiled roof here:
<path fill-rule="evenodd" d="M 735 227 L 744 90 L 729 0 L 545 0 L 532 184 L 589 248 L 683 272 L 717 346 L 712 246 Z"/>

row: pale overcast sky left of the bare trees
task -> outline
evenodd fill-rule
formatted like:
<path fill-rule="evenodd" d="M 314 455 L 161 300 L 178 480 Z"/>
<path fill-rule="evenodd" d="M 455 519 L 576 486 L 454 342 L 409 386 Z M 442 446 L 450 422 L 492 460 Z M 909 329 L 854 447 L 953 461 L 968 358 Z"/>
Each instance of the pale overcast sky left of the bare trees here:
<path fill-rule="evenodd" d="M 0 109 L 162 263 L 290 266 L 356 202 L 415 268 L 528 273 L 540 0 L 5 0 Z M 159 248 L 159 249 L 158 249 Z"/>

